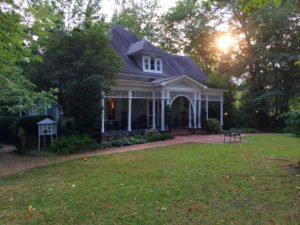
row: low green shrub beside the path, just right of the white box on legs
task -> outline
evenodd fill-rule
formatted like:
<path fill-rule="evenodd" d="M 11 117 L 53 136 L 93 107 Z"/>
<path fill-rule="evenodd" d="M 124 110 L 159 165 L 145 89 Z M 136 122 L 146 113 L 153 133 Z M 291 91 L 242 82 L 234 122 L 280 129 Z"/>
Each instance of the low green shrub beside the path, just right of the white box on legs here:
<path fill-rule="evenodd" d="M 61 137 L 46 148 L 47 151 L 56 154 L 71 154 L 83 150 L 91 150 L 95 142 L 87 135 L 72 135 L 69 137 Z"/>

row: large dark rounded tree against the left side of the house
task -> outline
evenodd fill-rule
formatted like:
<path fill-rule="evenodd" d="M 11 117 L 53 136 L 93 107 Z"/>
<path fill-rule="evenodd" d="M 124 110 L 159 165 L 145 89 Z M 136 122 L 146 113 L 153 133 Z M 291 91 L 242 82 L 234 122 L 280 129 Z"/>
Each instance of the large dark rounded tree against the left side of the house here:
<path fill-rule="evenodd" d="M 120 69 L 108 33 L 103 22 L 55 33 L 36 71 L 37 84 L 59 89 L 64 116 L 74 117 L 81 132 L 91 132 L 97 125 L 102 91 L 114 84 Z"/>

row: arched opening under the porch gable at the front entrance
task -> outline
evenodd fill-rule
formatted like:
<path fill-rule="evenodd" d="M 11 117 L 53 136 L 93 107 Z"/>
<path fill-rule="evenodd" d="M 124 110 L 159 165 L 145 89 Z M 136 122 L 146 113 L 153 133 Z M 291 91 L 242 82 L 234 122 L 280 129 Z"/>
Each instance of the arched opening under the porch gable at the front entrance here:
<path fill-rule="evenodd" d="M 193 105 L 185 96 L 176 97 L 170 104 L 170 122 L 173 128 L 191 128 L 193 114 Z"/>

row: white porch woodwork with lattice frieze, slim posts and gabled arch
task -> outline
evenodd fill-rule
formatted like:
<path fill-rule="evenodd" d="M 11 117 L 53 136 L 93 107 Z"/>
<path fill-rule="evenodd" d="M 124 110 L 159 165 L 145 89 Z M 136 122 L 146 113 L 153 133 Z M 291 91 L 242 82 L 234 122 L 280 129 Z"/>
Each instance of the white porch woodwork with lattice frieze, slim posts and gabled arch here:
<path fill-rule="evenodd" d="M 103 93 L 101 132 L 105 132 L 107 118 L 105 115 L 105 101 L 109 99 L 126 101 L 128 132 L 132 131 L 132 116 L 137 111 L 136 107 L 133 109 L 133 100 L 150 100 L 152 102 L 151 106 L 147 105 L 152 112 L 151 118 L 148 118 L 151 119 L 149 122 L 152 128 L 163 131 L 165 130 L 165 107 L 166 105 L 171 107 L 179 97 L 184 97 L 189 102 L 188 126 L 190 128 L 201 128 L 202 101 L 205 102 L 206 118 L 209 116 L 208 102 L 220 102 L 220 125 L 223 126 L 223 94 L 224 90 L 209 89 L 186 75 L 156 84 L 120 82 L 119 86 Z M 158 121 L 158 118 L 160 118 L 160 121 Z M 192 118 L 193 121 L 191 121 Z M 158 123 L 160 124 L 159 127 L 157 127 Z"/>

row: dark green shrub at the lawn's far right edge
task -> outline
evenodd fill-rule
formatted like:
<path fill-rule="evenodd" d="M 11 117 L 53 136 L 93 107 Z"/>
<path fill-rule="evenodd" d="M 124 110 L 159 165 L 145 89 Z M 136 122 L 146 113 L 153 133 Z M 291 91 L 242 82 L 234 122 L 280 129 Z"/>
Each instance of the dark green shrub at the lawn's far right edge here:
<path fill-rule="evenodd" d="M 300 134 L 300 109 L 281 115 L 285 120 L 285 131 L 293 134 Z"/>

